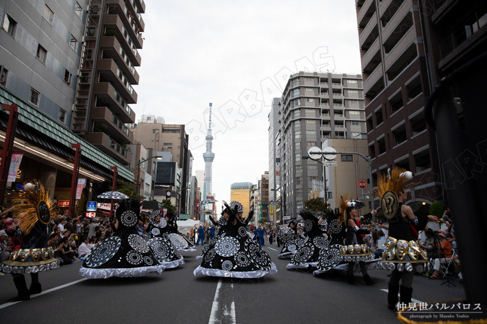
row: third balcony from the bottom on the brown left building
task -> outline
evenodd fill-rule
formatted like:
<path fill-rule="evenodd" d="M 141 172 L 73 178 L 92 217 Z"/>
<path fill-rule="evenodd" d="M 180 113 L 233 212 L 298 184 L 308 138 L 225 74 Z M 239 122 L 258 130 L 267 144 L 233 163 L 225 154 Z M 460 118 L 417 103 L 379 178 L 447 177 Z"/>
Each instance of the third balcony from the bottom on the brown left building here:
<path fill-rule="evenodd" d="M 93 86 L 95 95 L 95 106 L 107 106 L 115 113 L 124 124 L 135 123 L 135 112 L 130 109 L 123 98 L 116 92 L 115 88 L 109 82 L 95 82 Z"/>

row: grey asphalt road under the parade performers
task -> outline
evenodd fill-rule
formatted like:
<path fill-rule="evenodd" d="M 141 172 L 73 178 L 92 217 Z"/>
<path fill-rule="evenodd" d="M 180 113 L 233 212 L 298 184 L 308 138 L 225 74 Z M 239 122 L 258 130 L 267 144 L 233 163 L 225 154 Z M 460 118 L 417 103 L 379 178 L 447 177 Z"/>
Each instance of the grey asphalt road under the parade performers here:
<path fill-rule="evenodd" d="M 345 275 L 313 276 L 311 271 L 286 270 L 275 244 L 264 249 L 278 272 L 259 279 L 230 279 L 199 275 L 193 270 L 201 251 L 183 253 L 185 264 L 161 275 L 140 278 L 83 279 L 81 262 L 40 274 L 43 294 L 13 305 L 17 295 L 10 275 L 0 277 L 0 318 L 4 323 L 393 323 L 387 309 L 389 271 L 371 270 L 378 280 L 365 286 L 347 284 Z M 272 250 L 274 249 L 274 250 Z M 27 285 L 30 276 L 26 275 Z M 78 282 L 77 282 L 78 281 Z M 75 282 L 74 284 L 72 284 Z M 63 288 L 63 285 L 72 284 Z M 413 298 L 435 302 L 464 298 L 463 285 L 441 286 L 441 280 L 414 276 Z M 59 289 L 56 289 L 59 288 Z M 53 289 L 53 291 L 46 292 Z"/>

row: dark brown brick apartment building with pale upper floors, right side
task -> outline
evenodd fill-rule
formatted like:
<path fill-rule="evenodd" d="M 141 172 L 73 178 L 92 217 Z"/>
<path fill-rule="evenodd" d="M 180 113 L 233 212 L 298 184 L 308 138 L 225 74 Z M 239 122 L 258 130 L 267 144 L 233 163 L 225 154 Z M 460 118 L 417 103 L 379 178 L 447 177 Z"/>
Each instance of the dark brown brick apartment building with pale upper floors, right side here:
<path fill-rule="evenodd" d="M 424 118 L 430 88 L 418 3 L 357 0 L 356 5 L 374 183 L 394 166 L 411 171 L 419 185 L 409 204 L 422 212 L 443 198 L 436 137 Z"/>

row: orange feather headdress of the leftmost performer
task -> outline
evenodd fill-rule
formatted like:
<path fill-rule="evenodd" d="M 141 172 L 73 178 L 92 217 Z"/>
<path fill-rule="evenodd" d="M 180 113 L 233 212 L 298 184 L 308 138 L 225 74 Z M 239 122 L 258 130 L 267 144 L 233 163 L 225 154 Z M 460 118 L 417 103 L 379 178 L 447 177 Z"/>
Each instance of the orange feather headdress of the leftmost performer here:
<path fill-rule="evenodd" d="M 54 213 L 54 200 L 49 197 L 49 191 L 44 188 L 44 185 L 37 180 L 31 182 L 24 182 L 25 194 L 22 197 L 12 199 L 14 208 L 12 214 L 15 218 L 21 220 L 20 230 L 24 234 L 28 234 L 30 230 L 36 225 L 37 221 L 42 221 L 47 224 L 52 219 L 57 219 Z M 49 219 L 41 220 L 38 216 L 38 206 L 41 201 L 44 201 L 50 212 Z"/>

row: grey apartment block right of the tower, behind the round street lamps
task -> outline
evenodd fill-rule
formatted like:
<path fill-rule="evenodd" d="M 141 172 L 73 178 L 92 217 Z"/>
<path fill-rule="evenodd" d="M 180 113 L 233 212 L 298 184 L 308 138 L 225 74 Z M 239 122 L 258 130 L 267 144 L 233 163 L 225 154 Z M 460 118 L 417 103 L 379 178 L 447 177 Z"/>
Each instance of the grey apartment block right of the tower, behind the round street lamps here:
<path fill-rule="evenodd" d="M 323 181 L 321 165 L 301 156 L 327 138 L 367 137 L 362 77 L 299 72 L 290 76 L 278 105 L 280 128 L 274 136 L 281 170 L 280 179 L 275 178 L 281 181 L 276 189 L 285 194 L 285 221 L 304 208 L 312 181 Z"/>

